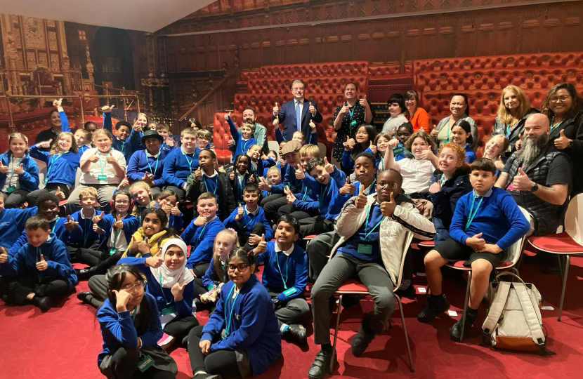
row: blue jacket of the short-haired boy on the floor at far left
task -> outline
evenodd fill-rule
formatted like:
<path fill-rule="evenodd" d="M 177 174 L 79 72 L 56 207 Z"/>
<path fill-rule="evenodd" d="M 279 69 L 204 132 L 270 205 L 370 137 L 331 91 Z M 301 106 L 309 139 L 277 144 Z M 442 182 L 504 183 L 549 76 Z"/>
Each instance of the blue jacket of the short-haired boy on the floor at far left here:
<path fill-rule="evenodd" d="M 48 265 L 44 271 L 39 271 L 36 267 L 41 254 Z M 8 260 L 0 265 L 0 274 L 6 277 L 26 274 L 38 278 L 39 282 L 46 279 L 61 279 L 67 282 L 70 290 L 77 284 L 77 275 L 69 260 L 67 246 L 54 233 L 51 233 L 48 241 L 38 248 L 27 241 L 14 255 L 8 255 Z"/>

